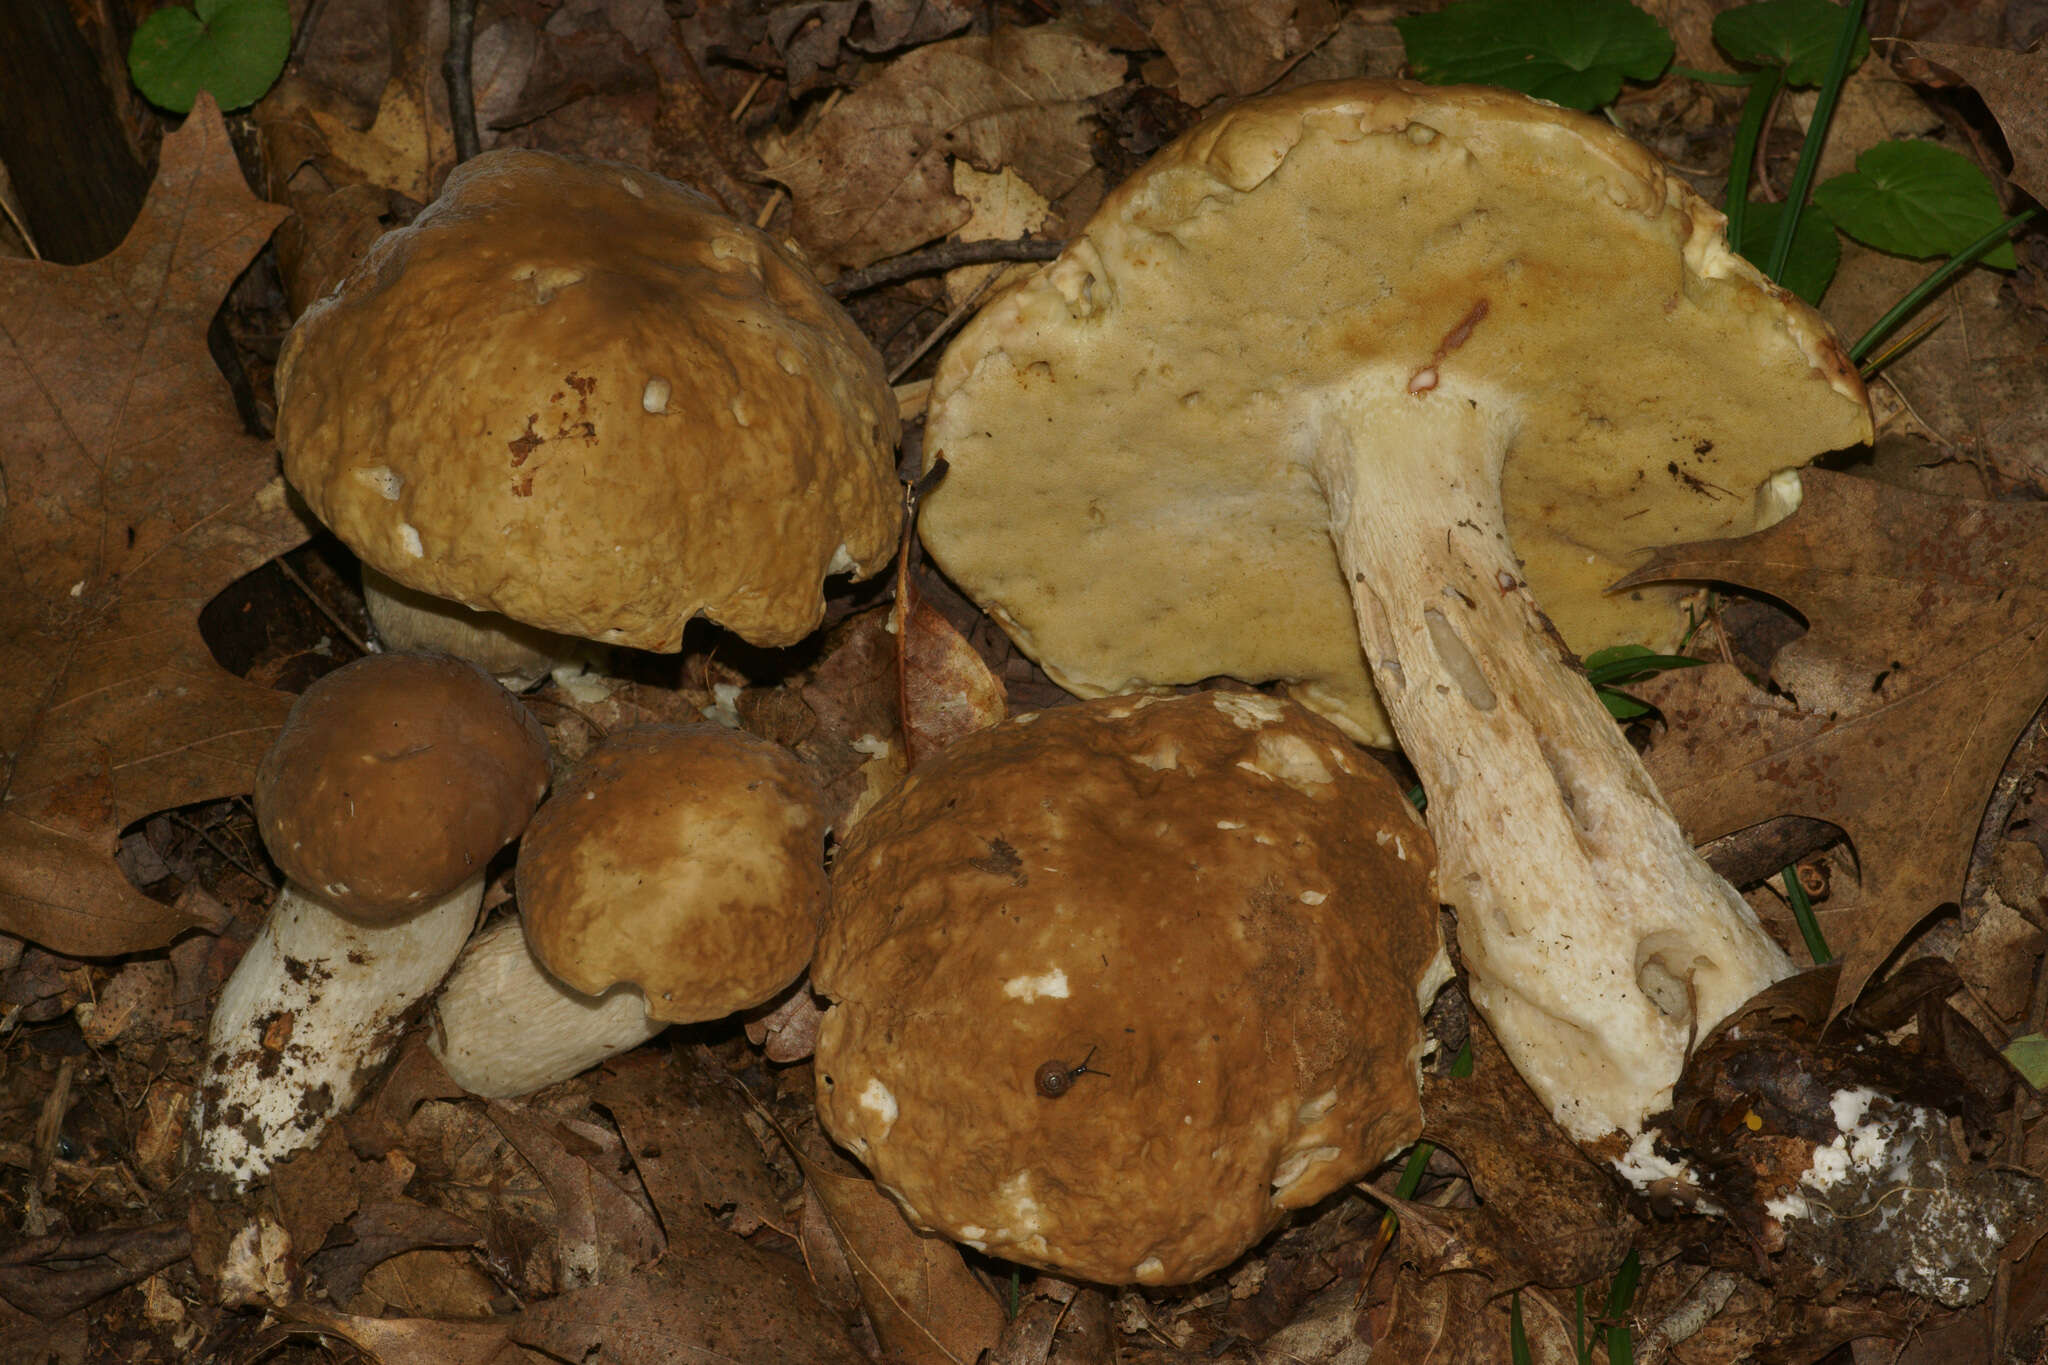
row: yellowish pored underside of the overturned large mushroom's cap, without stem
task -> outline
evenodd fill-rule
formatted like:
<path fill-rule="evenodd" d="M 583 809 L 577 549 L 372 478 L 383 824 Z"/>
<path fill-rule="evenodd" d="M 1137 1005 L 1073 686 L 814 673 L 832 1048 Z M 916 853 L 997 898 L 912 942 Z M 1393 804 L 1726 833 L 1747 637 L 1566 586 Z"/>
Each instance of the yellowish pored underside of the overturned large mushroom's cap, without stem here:
<path fill-rule="evenodd" d="M 920 532 L 1081 696 L 1292 679 L 1391 743 L 1309 456 L 1354 377 L 1421 391 L 1454 356 L 1507 399 L 1507 532 L 1559 632 L 1667 647 L 1677 593 L 1606 585 L 1870 436 L 1827 323 L 1722 229 L 1610 125 L 1503 90 L 1245 100 L 946 350 Z"/>

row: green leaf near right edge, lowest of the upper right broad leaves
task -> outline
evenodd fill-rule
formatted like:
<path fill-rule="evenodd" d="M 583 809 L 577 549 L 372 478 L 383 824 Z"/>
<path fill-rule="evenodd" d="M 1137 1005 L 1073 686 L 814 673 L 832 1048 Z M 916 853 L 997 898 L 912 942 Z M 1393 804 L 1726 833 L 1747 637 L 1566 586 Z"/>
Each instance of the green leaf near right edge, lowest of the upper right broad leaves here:
<path fill-rule="evenodd" d="M 2005 219 L 1976 162 L 1931 141 L 1880 141 L 1812 199 L 1841 231 L 1894 256 L 1954 256 Z M 2007 241 L 1985 264 L 2011 270 L 2019 258 Z"/>

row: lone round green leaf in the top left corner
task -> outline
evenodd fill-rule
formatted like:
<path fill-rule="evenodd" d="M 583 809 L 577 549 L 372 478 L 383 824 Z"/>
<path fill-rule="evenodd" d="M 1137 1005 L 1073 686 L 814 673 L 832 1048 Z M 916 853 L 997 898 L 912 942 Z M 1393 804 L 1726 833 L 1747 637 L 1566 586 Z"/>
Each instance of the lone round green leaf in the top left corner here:
<path fill-rule="evenodd" d="M 221 108 L 248 108 L 276 84 L 291 55 L 289 0 L 199 0 L 158 10 L 129 43 L 129 78 L 152 104 L 188 113 L 201 90 Z"/>

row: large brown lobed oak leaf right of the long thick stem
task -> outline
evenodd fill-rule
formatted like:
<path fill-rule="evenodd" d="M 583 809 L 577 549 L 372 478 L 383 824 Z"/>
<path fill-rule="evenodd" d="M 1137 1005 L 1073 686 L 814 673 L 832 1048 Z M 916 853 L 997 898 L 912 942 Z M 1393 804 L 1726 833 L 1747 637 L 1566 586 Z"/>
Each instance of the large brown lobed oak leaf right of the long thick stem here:
<path fill-rule="evenodd" d="M 1860 888 L 1821 911 L 1835 1009 L 1962 890 L 2013 739 L 2048 694 L 2048 508 L 1931 497 L 1827 471 L 1786 522 L 1659 551 L 1620 587 L 1720 579 L 1810 630 L 1755 688 L 1729 665 L 1636 688 L 1667 722 L 1645 761 L 1694 841 L 1776 814 L 1849 833 Z"/>

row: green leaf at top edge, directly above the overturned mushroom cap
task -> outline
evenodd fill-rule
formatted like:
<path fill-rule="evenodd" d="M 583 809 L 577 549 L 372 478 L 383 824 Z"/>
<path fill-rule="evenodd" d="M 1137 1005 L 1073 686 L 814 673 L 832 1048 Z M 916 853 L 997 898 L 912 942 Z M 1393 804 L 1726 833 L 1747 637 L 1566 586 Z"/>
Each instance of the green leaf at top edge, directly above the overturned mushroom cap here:
<path fill-rule="evenodd" d="M 1628 0 L 1458 0 L 1397 18 L 1409 65 L 1438 86 L 1507 86 L 1597 108 L 1622 80 L 1657 80 L 1671 35 Z"/>

